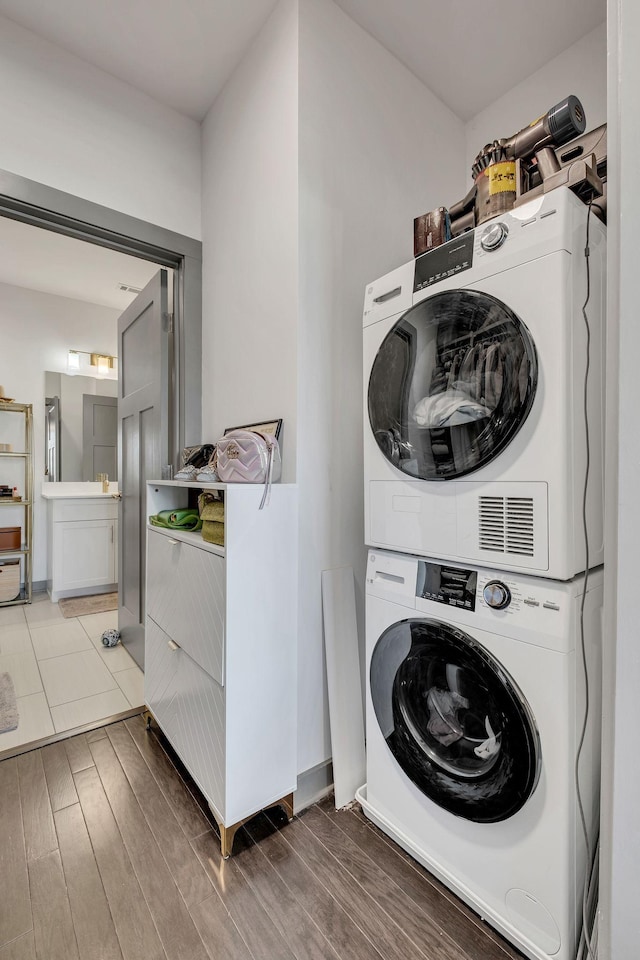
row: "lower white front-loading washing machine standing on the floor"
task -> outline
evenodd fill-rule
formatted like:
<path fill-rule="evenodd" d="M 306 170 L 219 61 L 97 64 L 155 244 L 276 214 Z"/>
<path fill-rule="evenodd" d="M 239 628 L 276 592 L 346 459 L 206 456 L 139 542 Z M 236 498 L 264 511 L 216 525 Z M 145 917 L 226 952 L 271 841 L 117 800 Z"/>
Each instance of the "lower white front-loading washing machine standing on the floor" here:
<path fill-rule="evenodd" d="M 583 578 L 371 550 L 367 816 L 535 960 L 573 960 L 586 844 Z M 580 784 L 598 816 L 602 569 L 585 598 Z"/>

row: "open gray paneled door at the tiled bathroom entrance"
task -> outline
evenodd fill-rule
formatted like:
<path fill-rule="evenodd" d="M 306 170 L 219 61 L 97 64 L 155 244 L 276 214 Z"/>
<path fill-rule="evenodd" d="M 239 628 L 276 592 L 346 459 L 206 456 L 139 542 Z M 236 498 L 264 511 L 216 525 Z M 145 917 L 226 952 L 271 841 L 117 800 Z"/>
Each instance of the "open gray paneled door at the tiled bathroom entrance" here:
<path fill-rule="evenodd" d="M 169 462 L 167 272 L 160 270 L 118 320 L 120 535 L 118 628 L 144 666 L 146 483 Z"/>

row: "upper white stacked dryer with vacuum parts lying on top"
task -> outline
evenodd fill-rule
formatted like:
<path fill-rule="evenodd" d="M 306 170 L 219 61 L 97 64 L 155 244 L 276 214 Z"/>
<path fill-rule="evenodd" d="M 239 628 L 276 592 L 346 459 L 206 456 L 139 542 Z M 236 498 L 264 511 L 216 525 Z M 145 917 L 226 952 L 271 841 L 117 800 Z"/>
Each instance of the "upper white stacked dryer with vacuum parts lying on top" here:
<path fill-rule="evenodd" d="M 365 540 L 585 568 L 588 208 L 554 190 L 367 287 Z M 606 229 L 589 218 L 589 565 L 603 562 Z"/>

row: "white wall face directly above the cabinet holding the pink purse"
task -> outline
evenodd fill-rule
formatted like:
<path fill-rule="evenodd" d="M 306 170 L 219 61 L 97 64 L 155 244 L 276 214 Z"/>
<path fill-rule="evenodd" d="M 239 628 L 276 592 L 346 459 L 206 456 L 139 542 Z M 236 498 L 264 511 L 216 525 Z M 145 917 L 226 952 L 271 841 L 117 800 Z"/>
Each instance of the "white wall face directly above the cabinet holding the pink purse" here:
<path fill-rule="evenodd" d="M 297 3 L 281 0 L 203 124 L 202 429 L 282 417 L 295 478 Z"/>

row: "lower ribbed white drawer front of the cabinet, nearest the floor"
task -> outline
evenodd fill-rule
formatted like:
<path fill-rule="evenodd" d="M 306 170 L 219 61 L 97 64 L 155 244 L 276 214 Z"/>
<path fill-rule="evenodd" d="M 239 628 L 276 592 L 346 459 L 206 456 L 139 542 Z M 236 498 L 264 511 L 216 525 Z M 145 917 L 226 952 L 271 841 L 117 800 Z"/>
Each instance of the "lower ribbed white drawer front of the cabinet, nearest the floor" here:
<path fill-rule="evenodd" d="M 217 815 L 224 819 L 224 691 L 147 617 L 145 700 Z"/>

